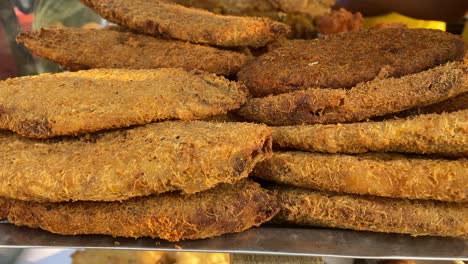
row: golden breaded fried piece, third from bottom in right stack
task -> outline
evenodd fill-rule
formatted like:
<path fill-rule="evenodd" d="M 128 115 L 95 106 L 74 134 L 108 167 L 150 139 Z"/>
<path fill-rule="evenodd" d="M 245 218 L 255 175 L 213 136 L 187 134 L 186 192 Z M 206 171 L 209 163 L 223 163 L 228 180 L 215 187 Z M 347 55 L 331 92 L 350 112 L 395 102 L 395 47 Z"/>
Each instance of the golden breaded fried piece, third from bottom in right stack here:
<path fill-rule="evenodd" d="M 468 110 L 382 122 L 274 127 L 273 142 L 312 152 L 468 157 Z"/>

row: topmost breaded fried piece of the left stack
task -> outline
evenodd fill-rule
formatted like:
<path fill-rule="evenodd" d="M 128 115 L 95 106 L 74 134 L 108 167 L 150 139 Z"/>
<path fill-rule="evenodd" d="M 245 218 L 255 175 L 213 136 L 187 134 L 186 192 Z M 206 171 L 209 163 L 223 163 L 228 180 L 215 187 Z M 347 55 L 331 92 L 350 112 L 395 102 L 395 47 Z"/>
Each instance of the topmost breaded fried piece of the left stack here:
<path fill-rule="evenodd" d="M 289 27 L 267 18 L 216 15 L 169 0 L 81 0 L 105 19 L 154 36 L 222 47 L 262 47 Z"/>

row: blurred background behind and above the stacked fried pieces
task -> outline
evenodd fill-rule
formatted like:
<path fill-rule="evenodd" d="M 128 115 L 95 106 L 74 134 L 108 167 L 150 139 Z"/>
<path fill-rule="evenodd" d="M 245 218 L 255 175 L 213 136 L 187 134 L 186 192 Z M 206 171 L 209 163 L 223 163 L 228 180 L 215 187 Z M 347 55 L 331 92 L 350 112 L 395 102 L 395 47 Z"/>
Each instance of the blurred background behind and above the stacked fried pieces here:
<path fill-rule="evenodd" d="M 173 0 L 215 13 L 268 16 L 292 27 L 290 38 L 314 38 L 345 31 L 388 26 L 434 28 L 461 34 L 468 41 L 466 0 L 310 0 L 306 10 L 231 10 L 226 0 Z M 272 1 L 272 0 L 261 0 Z M 261 6 L 261 4 L 257 4 Z M 61 71 L 16 44 L 20 31 L 46 26 L 100 28 L 106 22 L 79 0 L 0 1 L 0 80 Z"/>

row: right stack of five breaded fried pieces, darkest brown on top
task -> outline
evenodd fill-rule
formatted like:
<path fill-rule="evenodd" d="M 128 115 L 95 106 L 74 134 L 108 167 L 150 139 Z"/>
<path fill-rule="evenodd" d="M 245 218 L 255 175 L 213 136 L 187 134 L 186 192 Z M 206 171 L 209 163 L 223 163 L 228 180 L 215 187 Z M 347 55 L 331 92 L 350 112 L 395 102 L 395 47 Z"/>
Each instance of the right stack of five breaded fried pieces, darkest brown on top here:
<path fill-rule="evenodd" d="M 390 28 L 285 42 L 243 67 L 257 98 L 240 114 L 275 126 L 279 151 L 253 172 L 278 184 L 274 221 L 466 237 L 463 55 L 448 33 Z"/>

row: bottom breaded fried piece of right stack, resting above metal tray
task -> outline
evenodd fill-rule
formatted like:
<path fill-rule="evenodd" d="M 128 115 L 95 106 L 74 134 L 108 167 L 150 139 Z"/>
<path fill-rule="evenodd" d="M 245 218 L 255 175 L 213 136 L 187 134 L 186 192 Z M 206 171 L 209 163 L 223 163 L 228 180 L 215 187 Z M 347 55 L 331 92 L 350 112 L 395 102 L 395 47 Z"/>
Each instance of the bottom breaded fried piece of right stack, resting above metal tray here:
<path fill-rule="evenodd" d="M 468 235 L 463 203 L 332 194 L 294 187 L 272 187 L 281 207 L 274 221 L 413 236 Z"/>

